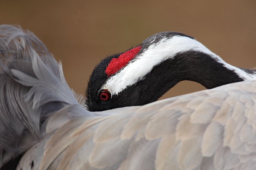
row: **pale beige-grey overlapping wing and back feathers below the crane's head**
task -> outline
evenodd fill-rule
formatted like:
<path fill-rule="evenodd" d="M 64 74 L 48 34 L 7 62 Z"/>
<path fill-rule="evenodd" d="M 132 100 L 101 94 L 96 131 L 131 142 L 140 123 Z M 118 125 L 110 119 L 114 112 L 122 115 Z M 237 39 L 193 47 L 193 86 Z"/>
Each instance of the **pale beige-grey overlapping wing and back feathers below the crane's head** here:
<path fill-rule="evenodd" d="M 67 122 L 48 139 L 38 164 L 41 169 L 54 165 L 59 170 L 241 170 L 255 167 L 256 134 L 247 119 L 256 113 L 246 114 L 244 111 L 254 105 L 244 101 L 256 93 L 246 91 L 247 85 L 251 86 L 250 82 L 127 108 L 123 112 L 114 109 L 105 116 L 102 112 L 90 118 L 81 116 L 84 120 L 73 118 L 73 125 L 72 121 Z M 218 96 L 216 91 L 224 91 L 224 95 Z M 200 97 L 191 101 L 196 94 Z M 233 94 L 236 100 L 231 99 Z M 215 100 L 221 102 L 216 104 Z M 197 110 L 198 107 L 201 109 Z M 214 111 L 208 111 L 208 107 L 213 107 Z M 206 114 L 207 119 L 192 121 L 195 117 L 200 119 L 200 113 Z"/>

